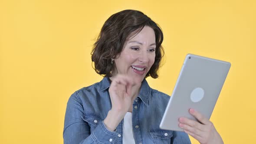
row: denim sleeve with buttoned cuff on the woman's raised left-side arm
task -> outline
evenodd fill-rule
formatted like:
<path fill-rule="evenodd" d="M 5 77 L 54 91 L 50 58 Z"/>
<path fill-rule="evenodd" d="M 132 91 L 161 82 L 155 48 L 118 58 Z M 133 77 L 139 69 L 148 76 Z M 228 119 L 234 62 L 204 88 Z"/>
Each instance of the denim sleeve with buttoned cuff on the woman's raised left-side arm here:
<path fill-rule="evenodd" d="M 90 131 L 88 122 L 82 119 L 84 109 L 77 92 L 69 98 L 66 107 L 63 139 L 64 144 L 113 144 L 118 133 L 108 131 L 103 121 Z"/>

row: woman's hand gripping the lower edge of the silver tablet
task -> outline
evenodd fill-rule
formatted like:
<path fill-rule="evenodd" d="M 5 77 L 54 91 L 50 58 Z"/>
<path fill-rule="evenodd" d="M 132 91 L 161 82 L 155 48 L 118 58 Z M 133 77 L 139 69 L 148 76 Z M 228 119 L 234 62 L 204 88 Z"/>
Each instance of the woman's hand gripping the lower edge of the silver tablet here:
<path fill-rule="evenodd" d="M 223 144 L 220 134 L 216 131 L 211 121 L 194 109 L 190 108 L 189 113 L 199 122 L 181 117 L 179 118 L 180 128 L 184 129 L 187 134 L 197 139 L 200 144 Z"/>

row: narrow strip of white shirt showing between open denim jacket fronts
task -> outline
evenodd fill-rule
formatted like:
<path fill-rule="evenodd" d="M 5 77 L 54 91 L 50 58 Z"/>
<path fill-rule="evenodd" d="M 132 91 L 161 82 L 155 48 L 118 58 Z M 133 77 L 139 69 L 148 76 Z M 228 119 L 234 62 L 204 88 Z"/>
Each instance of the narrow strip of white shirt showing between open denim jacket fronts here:
<path fill-rule="evenodd" d="M 132 113 L 127 112 L 123 124 L 123 144 L 135 144 L 132 131 Z"/>

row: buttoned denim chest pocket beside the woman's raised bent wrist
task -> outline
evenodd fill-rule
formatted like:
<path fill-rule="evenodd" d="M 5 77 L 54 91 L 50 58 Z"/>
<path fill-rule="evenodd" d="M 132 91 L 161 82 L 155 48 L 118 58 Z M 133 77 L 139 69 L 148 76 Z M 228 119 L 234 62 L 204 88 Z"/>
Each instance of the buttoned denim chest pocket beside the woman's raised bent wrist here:
<path fill-rule="evenodd" d="M 89 126 L 91 127 L 91 131 L 93 131 L 102 121 L 102 118 L 94 112 L 85 112 L 82 119 L 88 122 Z"/>

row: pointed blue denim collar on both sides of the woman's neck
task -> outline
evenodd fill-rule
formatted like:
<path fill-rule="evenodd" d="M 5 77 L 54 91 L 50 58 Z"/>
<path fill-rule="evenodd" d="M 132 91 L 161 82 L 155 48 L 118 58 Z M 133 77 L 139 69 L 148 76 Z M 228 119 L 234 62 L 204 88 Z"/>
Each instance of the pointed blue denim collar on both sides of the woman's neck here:
<path fill-rule="evenodd" d="M 99 82 L 99 91 L 108 90 L 110 87 L 111 81 L 108 77 L 104 77 L 102 81 Z M 151 95 L 151 88 L 148 85 L 146 79 L 144 79 L 141 83 L 141 89 L 138 97 L 144 102 L 145 105 L 148 105 L 149 97 Z"/>

